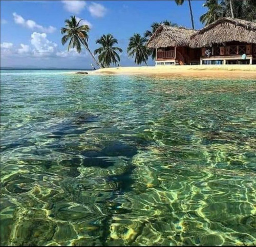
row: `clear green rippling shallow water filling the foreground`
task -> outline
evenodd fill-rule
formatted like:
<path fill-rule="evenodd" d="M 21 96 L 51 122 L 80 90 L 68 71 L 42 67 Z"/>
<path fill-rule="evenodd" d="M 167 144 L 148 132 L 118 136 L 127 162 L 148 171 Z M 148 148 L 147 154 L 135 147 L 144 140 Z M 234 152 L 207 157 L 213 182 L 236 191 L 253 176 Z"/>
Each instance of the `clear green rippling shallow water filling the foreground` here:
<path fill-rule="evenodd" d="M 1 71 L 1 245 L 255 245 L 255 83 Z"/>

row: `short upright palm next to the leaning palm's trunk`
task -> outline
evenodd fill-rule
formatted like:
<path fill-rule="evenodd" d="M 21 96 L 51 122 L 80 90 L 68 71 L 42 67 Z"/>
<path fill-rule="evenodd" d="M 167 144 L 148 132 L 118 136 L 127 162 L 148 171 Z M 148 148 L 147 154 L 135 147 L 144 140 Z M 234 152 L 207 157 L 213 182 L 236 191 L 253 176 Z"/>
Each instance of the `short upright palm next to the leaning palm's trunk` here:
<path fill-rule="evenodd" d="M 113 47 L 118 41 L 113 37 L 112 34 L 102 35 L 96 40 L 97 44 L 101 44 L 102 47 L 94 51 L 94 55 L 99 54 L 98 59 L 103 67 L 109 67 L 111 63 L 120 65 L 120 57 L 117 53 L 123 50 L 118 47 Z"/>

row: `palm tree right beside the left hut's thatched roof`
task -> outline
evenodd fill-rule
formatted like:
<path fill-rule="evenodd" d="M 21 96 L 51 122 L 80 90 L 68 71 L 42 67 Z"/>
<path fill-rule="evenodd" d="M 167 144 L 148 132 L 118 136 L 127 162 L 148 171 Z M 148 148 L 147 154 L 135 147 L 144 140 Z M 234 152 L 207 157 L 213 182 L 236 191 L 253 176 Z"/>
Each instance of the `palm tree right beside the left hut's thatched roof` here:
<path fill-rule="evenodd" d="M 137 64 L 141 64 L 144 62 L 146 65 L 146 61 L 148 59 L 148 55 L 150 55 L 150 51 L 146 48 L 145 42 L 146 38 L 140 36 L 140 34 L 135 33 L 131 38 L 127 48 L 127 53 L 129 57 L 134 57 L 134 62 Z"/>

